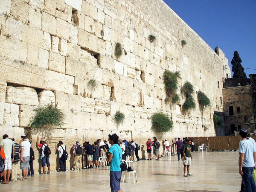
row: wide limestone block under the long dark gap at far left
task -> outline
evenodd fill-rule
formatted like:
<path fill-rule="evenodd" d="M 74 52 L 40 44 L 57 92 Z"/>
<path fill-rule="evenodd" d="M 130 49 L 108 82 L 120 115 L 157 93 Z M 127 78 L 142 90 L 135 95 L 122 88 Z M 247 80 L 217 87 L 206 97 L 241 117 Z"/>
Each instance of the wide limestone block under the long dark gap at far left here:
<path fill-rule="evenodd" d="M 30 87 L 7 86 L 6 102 L 34 106 L 39 104 L 36 90 Z"/>

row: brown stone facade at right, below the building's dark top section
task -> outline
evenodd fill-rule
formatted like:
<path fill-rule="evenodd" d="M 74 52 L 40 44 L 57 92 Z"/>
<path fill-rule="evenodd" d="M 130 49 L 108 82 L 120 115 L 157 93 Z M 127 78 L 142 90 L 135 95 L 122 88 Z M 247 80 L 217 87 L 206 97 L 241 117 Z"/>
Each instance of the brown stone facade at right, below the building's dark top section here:
<path fill-rule="evenodd" d="M 234 126 L 235 131 L 239 131 L 239 126 L 251 132 L 255 129 L 250 87 L 250 85 L 245 85 L 223 89 L 226 134 L 232 134 L 231 125 Z M 230 115 L 229 107 L 233 107 L 233 115 Z"/>

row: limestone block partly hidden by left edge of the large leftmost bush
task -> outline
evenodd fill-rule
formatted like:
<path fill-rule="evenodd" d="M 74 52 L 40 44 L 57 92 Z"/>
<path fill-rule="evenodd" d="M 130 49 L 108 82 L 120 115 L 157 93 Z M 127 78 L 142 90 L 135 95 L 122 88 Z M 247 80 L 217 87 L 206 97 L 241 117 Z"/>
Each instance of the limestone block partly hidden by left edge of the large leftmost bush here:
<path fill-rule="evenodd" d="M 29 119 L 35 115 L 33 111 L 36 107 L 31 105 L 20 105 L 20 127 L 27 127 Z"/>

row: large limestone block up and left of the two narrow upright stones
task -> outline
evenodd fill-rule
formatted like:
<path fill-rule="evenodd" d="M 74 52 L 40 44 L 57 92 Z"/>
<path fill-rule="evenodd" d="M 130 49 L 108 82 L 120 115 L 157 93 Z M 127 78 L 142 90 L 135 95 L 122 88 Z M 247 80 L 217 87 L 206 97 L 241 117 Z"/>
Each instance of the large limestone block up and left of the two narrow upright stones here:
<path fill-rule="evenodd" d="M 44 32 L 32 26 L 22 24 L 22 41 L 36 47 L 44 48 Z"/>

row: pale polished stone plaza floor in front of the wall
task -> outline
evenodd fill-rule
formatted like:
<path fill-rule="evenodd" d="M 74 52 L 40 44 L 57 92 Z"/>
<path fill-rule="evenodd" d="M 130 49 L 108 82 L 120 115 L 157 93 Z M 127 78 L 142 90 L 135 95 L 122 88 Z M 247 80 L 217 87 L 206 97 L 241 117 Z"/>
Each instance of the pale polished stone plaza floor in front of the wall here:
<path fill-rule="evenodd" d="M 121 183 L 124 192 L 238 192 L 241 177 L 238 172 L 238 152 L 193 153 L 190 172 L 192 177 L 183 177 L 182 162 L 176 156 L 157 160 L 134 162 L 138 182 L 132 178 Z M 37 168 L 35 168 L 37 169 Z M 53 169 L 53 167 L 52 167 Z M 17 192 L 104 192 L 111 191 L 109 169 L 86 169 L 80 172 L 52 172 L 50 175 L 35 175 L 28 181 L 0 185 L 0 191 Z"/>

